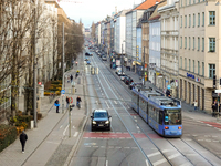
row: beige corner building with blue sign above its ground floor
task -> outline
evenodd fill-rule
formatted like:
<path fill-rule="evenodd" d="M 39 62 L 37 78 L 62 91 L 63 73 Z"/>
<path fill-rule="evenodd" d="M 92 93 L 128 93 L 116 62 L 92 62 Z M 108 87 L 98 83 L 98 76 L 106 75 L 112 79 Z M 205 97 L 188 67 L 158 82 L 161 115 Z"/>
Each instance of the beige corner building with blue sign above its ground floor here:
<path fill-rule="evenodd" d="M 179 97 L 211 111 L 221 77 L 220 22 L 217 1 L 180 1 Z M 213 86 L 213 76 L 217 75 Z"/>

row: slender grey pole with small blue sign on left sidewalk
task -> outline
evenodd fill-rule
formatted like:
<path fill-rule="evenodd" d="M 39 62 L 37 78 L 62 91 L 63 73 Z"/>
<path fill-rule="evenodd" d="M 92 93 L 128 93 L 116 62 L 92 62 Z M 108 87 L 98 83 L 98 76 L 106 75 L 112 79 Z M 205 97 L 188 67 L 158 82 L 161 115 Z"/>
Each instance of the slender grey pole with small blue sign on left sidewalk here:
<path fill-rule="evenodd" d="M 62 90 L 64 90 L 64 22 L 62 23 Z M 62 113 L 64 113 L 63 95 L 62 95 Z"/>

